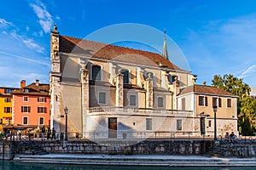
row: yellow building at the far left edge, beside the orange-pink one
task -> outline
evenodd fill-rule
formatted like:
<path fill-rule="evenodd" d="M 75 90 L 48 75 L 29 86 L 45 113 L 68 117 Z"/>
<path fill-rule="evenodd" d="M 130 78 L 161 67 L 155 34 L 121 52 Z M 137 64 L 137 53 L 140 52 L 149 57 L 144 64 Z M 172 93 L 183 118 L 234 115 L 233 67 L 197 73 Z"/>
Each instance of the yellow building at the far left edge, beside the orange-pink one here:
<path fill-rule="evenodd" d="M 15 88 L 0 88 L 0 124 L 4 126 L 12 123 L 12 93 Z"/>

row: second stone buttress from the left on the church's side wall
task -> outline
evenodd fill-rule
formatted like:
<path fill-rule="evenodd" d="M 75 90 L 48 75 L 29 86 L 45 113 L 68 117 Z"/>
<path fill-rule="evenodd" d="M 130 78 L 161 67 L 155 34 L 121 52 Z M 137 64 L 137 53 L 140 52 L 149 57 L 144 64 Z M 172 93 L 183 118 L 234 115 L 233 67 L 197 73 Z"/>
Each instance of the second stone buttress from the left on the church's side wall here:
<path fill-rule="evenodd" d="M 115 105 L 117 107 L 124 106 L 124 75 L 119 71 L 115 77 L 116 91 L 115 91 Z"/>

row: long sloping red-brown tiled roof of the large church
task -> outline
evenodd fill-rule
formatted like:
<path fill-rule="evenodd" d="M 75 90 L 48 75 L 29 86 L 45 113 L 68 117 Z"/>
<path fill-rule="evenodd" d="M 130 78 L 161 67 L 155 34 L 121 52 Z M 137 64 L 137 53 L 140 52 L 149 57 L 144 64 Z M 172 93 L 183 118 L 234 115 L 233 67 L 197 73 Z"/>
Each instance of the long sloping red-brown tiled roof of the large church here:
<path fill-rule="evenodd" d="M 160 54 L 74 37 L 60 36 L 60 52 L 83 54 L 92 58 L 113 59 L 139 65 L 159 66 L 162 63 L 162 67 L 182 71 L 177 65 L 172 64 Z"/>

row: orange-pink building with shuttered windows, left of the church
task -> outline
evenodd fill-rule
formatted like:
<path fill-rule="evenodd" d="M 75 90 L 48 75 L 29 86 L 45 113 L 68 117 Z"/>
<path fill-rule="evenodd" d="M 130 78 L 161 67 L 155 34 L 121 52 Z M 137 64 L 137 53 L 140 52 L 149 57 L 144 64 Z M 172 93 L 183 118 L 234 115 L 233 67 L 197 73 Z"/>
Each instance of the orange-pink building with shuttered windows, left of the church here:
<path fill-rule="evenodd" d="M 50 97 L 49 84 L 39 83 L 38 80 L 26 86 L 26 81 L 20 82 L 20 89 L 13 94 L 13 124 L 33 125 L 40 127 L 49 125 Z"/>

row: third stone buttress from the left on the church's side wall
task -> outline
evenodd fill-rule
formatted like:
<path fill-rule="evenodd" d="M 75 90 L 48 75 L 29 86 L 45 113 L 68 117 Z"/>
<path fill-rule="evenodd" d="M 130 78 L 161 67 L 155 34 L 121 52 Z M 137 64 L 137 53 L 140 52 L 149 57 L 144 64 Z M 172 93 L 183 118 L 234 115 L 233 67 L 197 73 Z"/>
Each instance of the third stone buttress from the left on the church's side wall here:
<path fill-rule="evenodd" d="M 153 79 L 151 74 L 148 73 L 148 78 L 145 81 L 146 88 L 146 108 L 153 109 L 154 106 L 154 89 L 153 89 Z"/>

